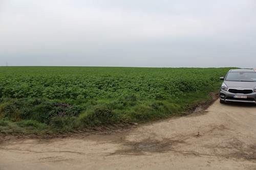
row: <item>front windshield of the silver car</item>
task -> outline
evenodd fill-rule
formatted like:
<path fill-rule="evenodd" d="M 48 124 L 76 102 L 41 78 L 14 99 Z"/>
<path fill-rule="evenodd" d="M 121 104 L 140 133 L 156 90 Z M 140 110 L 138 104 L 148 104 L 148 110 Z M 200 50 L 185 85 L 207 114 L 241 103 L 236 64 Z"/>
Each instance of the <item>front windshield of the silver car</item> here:
<path fill-rule="evenodd" d="M 229 72 L 226 81 L 256 82 L 256 72 Z"/>

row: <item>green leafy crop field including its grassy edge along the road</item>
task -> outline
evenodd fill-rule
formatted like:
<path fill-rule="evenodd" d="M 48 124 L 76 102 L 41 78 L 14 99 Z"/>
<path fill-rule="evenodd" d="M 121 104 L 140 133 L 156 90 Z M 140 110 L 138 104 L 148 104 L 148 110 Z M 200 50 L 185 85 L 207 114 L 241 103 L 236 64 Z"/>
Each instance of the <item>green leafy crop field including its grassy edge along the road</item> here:
<path fill-rule="evenodd" d="M 65 132 L 183 114 L 230 68 L 0 67 L 0 132 Z"/>

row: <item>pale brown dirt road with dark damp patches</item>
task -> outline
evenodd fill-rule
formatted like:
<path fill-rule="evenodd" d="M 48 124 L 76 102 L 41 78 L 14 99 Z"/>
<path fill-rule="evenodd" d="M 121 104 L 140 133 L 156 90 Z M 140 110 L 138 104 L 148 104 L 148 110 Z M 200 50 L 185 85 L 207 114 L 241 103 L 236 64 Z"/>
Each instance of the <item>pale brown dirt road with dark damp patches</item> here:
<path fill-rule="evenodd" d="M 6 141 L 0 169 L 256 169 L 256 107 L 216 101 L 118 134 Z"/>

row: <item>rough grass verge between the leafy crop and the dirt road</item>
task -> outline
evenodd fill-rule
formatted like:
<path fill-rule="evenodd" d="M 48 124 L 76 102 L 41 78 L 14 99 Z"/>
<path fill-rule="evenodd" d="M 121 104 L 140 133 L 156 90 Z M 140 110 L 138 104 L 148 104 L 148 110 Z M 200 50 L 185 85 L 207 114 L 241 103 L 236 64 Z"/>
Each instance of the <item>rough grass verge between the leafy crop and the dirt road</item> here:
<path fill-rule="evenodd" d="M 92 127 L 122 123 L 145 123 L 170 116 L 186 115 L 195 106 L 212 101 L 214 89 L 184 93 L 168 100 L 119 99 L 48 100 L 2 99 L 0 133 L 6 135 L 56 135 Z"/>

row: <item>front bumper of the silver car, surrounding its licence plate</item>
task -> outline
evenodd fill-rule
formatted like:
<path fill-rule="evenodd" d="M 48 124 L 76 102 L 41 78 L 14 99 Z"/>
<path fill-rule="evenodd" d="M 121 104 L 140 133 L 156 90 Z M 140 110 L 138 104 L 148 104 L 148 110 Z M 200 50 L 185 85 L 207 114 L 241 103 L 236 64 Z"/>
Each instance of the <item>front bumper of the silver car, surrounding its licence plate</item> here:
<path fill-rule="evenodd" d="M 234 95 L 246 95 L 247 99 L 234 98 Z M 236 93 L 230 93 L 229 91 L 225 91 L 221 89 L 220 100 L 225 102 L 246 102 L 246 103 L 256 104 L 256 92 L 253 92 L 250 94 L 236 94 Z"/>

